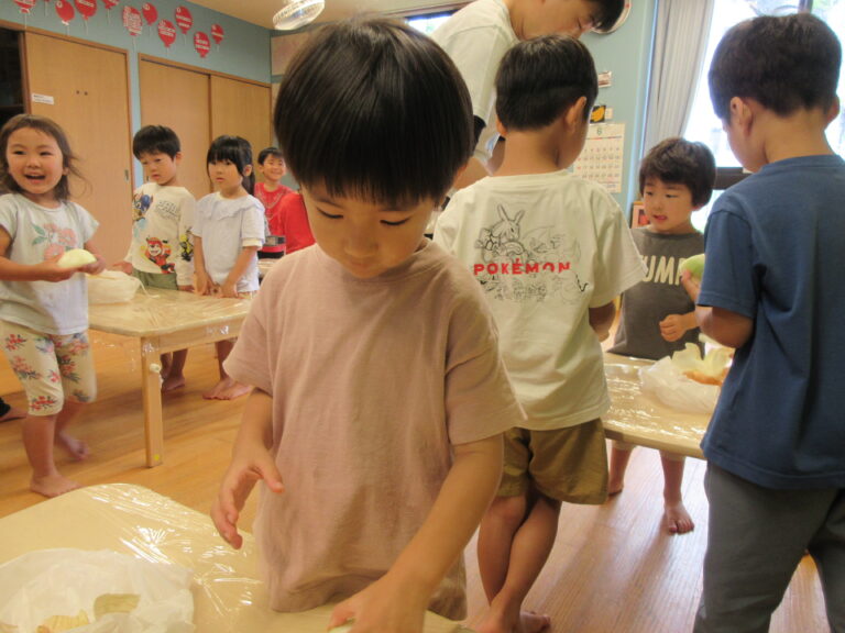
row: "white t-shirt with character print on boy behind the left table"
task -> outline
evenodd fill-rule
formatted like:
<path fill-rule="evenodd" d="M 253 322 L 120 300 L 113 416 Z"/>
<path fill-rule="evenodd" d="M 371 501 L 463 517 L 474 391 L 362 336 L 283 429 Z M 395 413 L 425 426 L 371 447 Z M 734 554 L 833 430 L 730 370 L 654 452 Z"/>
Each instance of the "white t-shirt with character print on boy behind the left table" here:
<path fill-rule="evenodd" d="M 185 187 L 144 182 L 132 196 L 132 243 L 125 260 L 152 275 L 194 284 L 191 226 L 197 202 Z"/>

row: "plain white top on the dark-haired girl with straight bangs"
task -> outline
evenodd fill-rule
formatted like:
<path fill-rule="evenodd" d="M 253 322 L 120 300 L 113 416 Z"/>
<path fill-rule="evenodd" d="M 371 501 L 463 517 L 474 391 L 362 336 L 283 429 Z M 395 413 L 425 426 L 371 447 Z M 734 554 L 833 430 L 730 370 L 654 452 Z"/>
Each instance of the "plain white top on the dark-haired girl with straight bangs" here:
<path fill-rule="evenodd" d="M 206 271 L 215 284 L 222 285 L 244 246 L 264 244 L 264 206 L 252 196 L 231 199 L 219 192 L 209 193 L 197 202 L 193 233 L 202 240 Z M 235 289 L 238 292 L 259 289 L 257 254 L 253 254 Z"/>

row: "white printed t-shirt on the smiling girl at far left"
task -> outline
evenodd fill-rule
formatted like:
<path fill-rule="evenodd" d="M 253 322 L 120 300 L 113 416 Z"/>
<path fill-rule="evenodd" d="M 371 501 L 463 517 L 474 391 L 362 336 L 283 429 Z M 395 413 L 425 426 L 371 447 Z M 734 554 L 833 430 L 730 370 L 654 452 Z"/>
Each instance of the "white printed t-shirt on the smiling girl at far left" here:
<path fill-rule="evenodd" d="M 12 238 L 6 257 L 35 265 L 70 248 L 83 248 L 99 223 L 84 208 L 65 201 L 48 209 L 19 193 L 0 196 L 0 226 Z M 0 281 L 0 320 L 45 334 L 88 329 L 88 286 L 83 273 L 64 281 Z"/>

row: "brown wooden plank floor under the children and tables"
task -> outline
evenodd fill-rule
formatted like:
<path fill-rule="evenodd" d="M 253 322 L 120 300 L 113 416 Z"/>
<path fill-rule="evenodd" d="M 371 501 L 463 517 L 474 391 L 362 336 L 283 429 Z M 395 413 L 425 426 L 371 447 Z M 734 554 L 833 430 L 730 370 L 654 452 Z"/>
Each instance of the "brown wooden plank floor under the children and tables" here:
<path fill-rule="evenodd" d="M 122 481 L 145 486 L 206 512 L 228 464 L 243 399 L 202 400 L 213 386 L 213 347 L 190 351 L 186 388 L 165 395 L 165 455 L 156 468 L 144 466 L 139 354 L 132 341 L 94 333 L 99 399 L 90 404 L 76 434 L 91 446 L 84 463 L 59 463 L 83 485 Z M 0 395 L 24 406 L 20 386 L 0 363 Z M 679 633 L 690 631 L 701 591 L 706 546 L 704 464 L 688 459 L 685 500 L 696 522 L 691 534 L 670 536 L 659 529 L 662 476 L 658 454 L 637 449 L 622 495 L 601 507 L 564 506 L 551 558 L 526 607 L 552 617 L 559 633 Z M 28 490 L 30 470 L 17 421 L 0 424 L 0 515 L 42 500 Z M 254 500 L 244 512 L 249 529 Z M 0 538 L 14 538 L 0 534 Z M 777 555 L 777 554 L 773 554 Z M 470 618 L 476 624 L 485 600 L 478 578 L 474 543 L 467 551 Z M 828 631 L 815 568 L 799 567 L 775 614 L 773 633 Z M 251 632 L 244 632 L 251 633 Z"/>

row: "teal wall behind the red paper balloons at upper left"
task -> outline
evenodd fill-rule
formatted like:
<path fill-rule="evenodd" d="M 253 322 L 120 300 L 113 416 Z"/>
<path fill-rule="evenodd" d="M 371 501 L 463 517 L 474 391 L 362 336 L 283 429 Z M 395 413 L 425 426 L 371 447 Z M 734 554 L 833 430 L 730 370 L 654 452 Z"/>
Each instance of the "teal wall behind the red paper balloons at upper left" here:
<path fill-rule="evenodd" d="M 158 20 L 166 19 L 175 25 L 176 19 L 174 14 L 177 7 L 186 7 L 194 18 L 194 25 L 187 35 L 183 35 L 182 31 L 177 27 L 176 41 L 169 48 L 165 48 L 158 38 L 157 22 L 147 25 L 146 21 L 143 21 L 143 32 L 139 36 L 133 37 L 123 26 L 122 11 L 127 2 L 121 1 L 120 4 L 107 11 L 100 0 L 96 1 L 97 13 L 87 21 L 87 25 L 77 11 L 69 26 L 65 26 L 58 15 L 56 15 L 55 0 L 51 2 L 39 0 L 30 15 L 26 16 L 25 24 L 44 31 L 53 31 L 80 40 L 89 40 L 99 44 L 114 46 L 116 48 L 124 48 L 129 52 L 130 107 L 133 133 L 140 127 L 141 122 L 139 54 L 153 55 L 217 73 L 270 82 L 271 31 L 263 26 L 237 20 L 184 0 L 149 0 L 158 11 Z M 143 3 L 141 0 L 138 0 L 129 5 L 140 11 Z M 24 15 L 11 0 L 2 0 L 2 3 L 0 3 L 0 20 L 24 24 Z M 219 46 L 211 40 L 211 24 L 219 24 L 223 27 L 224 37 Z M 205 32 L 209 40 L 211 40 L 211 51 L 206 55 L 205 59 L 194 49 L 194 33 L 198 31 Z M 167 96 L 163 95 L 162 98 L 166 99 Z"/>

